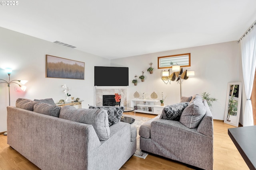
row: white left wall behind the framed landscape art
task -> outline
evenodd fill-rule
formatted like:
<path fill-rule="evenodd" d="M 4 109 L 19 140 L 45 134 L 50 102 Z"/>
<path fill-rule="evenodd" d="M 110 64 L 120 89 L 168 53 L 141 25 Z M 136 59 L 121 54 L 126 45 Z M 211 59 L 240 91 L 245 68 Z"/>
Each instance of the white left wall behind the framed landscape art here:
<path fill-rule="evenodd" d="M 84 80 L 46 78 L 46 54 L 85 63 Z M 0 27 L 0 78 L 8 80 L 4 68 L 13 69 L 11 80 L 28 80 L 27 90 L 14 91 L 11 84 L 11 106 L 17 98 L 44 99 L 53 98 L 55 102 L 66 99 L 61 85 L 71 88 L 70 94 L 85 101 L 83 108 L 94 104 L 94 66 L 109 66 L 110 60 L 64 47 L 49 41 L 17 33 Z M 0 132 L 6 131 L 6 106 L 9 105 L 7 84 L 0 84 Z"/>

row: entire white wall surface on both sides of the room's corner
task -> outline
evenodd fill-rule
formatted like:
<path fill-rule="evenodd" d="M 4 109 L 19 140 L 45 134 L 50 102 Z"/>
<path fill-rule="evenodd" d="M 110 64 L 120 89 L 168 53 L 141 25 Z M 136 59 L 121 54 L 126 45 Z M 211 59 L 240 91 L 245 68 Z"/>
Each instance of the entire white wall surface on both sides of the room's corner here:
<path fill-rule="evenodd" d="M 4 68 L 13 69 L 11 80 L 28 80 L 26 92 L 14 91 L 14 84 L 10 87 L 11 106 L 15 106 L 17 98 L 28 98 L 34 100 L 43 98 L 53 98 L 55 102 L 65 99 L 61 85 L 67 84 L 71 88 L 70 94 L 75 98 L 79 97 L 85 101 L 83 108 L 88 108 L 88 104 L 95 102 L 94 93 L 94 66 L 128 66 L 129 86 L 127 88 L 127 102 L 134 92 L 146 93 L 146 98 L 150 98 L 152 92 L 161 98 L 161 92 L 166 95 L 165 104 L 174 104 L 180 101 L 180 86 L 176 82 L 164 84 L 160 79 L 161 69 L 157 69 L 157 57 L 191 53 L 190 70 L 195 70 L 195 76 L 184 80 L 182 83 L 182 96 L 192 96 L 208 92 L 211 97 L 218 101 L 213 103 L 212 114 L 214 119 L 224 119 L 226 106 L 226 90 L 228 82 L 242 82 L 242 64 L 240 44 L 235 41 L 164 51 L 122 59 L 108 60 L 82 51 L 64 47 L 49 41 L 37 39 L 4 29 L 0 27 L 0 78 L 7 80 L 8 76 Z M 46 54 L 65 59 L 72 59 L 85 63 L 85 80 L 46 78 Z M 154 73 L 149 74 L 146 70 L 152 62 Z M 187 69 L 185 67 L 183 69 Z M 146 76 L 145 82 L 138 80 L 138 85 L 132 84 L 134 75 Z M 162 69 L 163 70 L 163 69 Z M 138 77 L 137 77 L 138 78 Z M 108 87 L 111 88 L 111 87 Z M 116 88 L 116 87 L 113 87 Z M 0 84 L 0 132 L 6 131 L 6 106 L 8 106 L 8 88 L 6 84 Z M 243 98 L 243 102 L 246 98 Z M 160 102 L 158 103 L 160 104 Z M 242 106 L 242 111 L 244 110 Z M 240 115 L 242 123 L 243 115 Z"/>

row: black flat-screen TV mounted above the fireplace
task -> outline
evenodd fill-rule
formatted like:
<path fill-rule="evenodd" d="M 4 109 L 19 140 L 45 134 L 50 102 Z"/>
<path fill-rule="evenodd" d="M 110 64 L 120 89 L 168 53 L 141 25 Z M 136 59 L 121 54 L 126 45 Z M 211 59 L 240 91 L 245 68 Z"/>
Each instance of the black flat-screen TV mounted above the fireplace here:
<path fill-rule="evenodd" d="M 128 67 L 94 66 L 94 86 L 128 85 Z"/>

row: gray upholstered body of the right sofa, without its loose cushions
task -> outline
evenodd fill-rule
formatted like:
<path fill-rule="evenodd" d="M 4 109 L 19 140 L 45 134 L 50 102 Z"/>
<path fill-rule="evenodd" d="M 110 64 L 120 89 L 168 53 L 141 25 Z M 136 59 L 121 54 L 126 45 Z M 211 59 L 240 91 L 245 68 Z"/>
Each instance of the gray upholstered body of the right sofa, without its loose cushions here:
<path fill-rule="evenodd" d="M 213 119 L 206 100 L 206 114 L 198 128 L 179 121 L 153 118 L 140 126 L 140 149 L 205 170 L 213 169 Z M 144 126 L 146 125 L 146 126 Z M 150 132 L 150 137 L 148 133 Z"/>

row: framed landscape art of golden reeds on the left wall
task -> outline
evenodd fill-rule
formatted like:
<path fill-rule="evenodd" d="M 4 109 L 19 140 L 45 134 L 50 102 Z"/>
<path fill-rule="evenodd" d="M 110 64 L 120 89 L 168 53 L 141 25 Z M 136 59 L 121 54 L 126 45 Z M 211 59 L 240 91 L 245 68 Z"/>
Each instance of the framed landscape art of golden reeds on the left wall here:
<path fill-rule="evenodd" d="M 46 55 L 46 77 L 84 80 L 84 62 Z"/>

